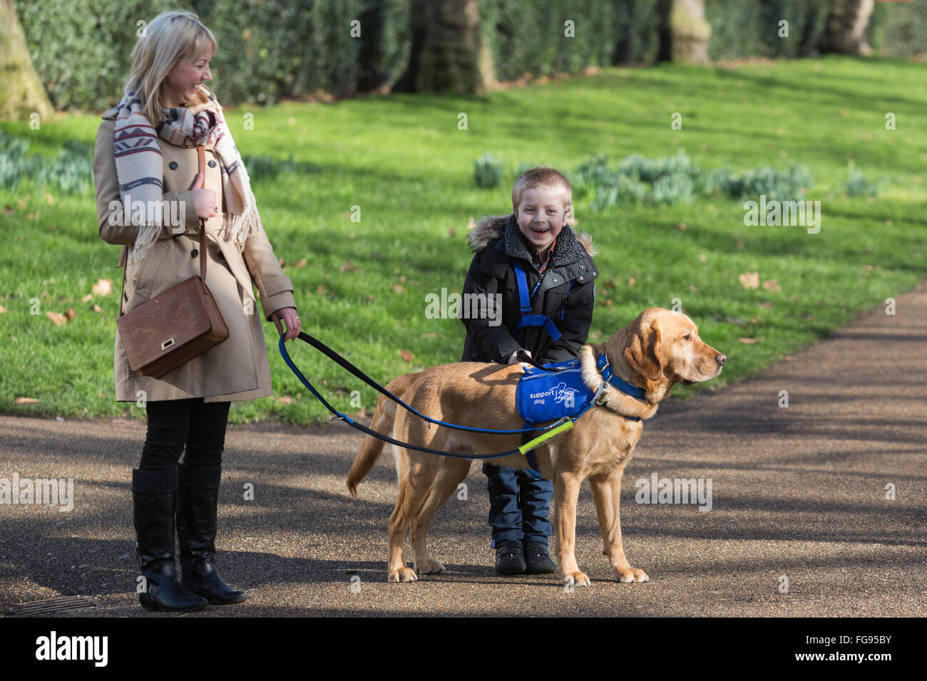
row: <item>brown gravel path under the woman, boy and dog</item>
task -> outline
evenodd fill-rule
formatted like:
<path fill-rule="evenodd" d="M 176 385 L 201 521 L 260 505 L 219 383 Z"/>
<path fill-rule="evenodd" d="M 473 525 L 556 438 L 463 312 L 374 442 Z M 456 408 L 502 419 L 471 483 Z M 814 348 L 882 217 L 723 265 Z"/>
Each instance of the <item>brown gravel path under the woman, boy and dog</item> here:
<path fill-rule="evenodd" d="M 186 616 L 922 617 L 925 339 L 927 283 L 898 297 L 895 316 L 873 309 L 752 380 L 664 404 L 623 489 L 625 550 L 647 584 L 609 575 L 588 484 L 577 557 L 592 586 L 568 592 L 555 575 L 494 574 L 478 464 L 467 498 L 452 496 L 432 526 L 448 572 L 387 584 L 392 458 L 354 499 L 344 480 L 361 436 L 347 425 L 230 427 L 218 564 L 248 601 Z M 134 594 L 130 481 L 144 438 L 140 424 L 0 416 L 0 477 L 73 478 L 75 497 L 70 512 L 0 505 L 0 603 L 86 594 L 100 607 L 61 614 L 173 616 L 144 613 Z M 710 478 L 711 511 L 635 503 L 635 481 L 654 473 Z M 253 501 L 243 498 L 249 483 Z"/>

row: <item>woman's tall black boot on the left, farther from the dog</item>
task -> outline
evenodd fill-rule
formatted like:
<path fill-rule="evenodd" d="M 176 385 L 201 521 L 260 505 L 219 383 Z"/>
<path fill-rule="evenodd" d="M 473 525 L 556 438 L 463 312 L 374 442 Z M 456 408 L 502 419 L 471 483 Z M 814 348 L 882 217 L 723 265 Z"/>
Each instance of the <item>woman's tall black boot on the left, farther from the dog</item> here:
<path fill-rule="evenodd" d="M 147 610 L 191 612 L 205 608 L 199 598 L 177 582 L 174 563 L 174 470 L 132 472 L 133 524 L 138 548 L 135 561 L 145 577 L 138 602 Z"/>

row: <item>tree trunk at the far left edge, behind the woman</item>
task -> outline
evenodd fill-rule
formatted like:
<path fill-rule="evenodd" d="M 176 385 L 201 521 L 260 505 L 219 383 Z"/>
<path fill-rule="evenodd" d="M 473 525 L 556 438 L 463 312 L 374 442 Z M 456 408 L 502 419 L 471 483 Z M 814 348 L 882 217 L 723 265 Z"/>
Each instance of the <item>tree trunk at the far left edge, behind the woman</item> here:
<path fill-rule="evenodd" d="M 51 116 L 55 109 L 32 67 L 13 0 L 0 0 L 0 119 Z"/>

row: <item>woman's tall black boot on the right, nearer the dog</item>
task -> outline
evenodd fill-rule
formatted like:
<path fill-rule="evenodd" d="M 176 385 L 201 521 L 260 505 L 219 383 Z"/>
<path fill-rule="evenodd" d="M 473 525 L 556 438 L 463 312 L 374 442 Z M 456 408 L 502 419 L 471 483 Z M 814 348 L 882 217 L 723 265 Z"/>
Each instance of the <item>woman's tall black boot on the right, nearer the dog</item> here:
<path fill-rule="evenodd" d="M 216 569 L 216 507 L 222 467 L 181 464 L 178 470 L 181 584 L 212 605 L 240 603 L 248 594 L 225 584 Z"/>

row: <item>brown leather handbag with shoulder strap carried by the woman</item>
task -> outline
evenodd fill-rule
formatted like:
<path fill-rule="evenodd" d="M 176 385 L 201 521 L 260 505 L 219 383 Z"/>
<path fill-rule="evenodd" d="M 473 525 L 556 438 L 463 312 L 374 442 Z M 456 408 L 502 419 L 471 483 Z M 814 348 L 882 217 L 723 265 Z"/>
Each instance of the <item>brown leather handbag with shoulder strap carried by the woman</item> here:
<path fill-rule="evenodd" d="M 199 170 L 204 171 L 202 146 L 197 146 Z M 127 251 L 128 249 L 126 249 Z M 126 251 L 123 251 L 123 260 Z M 199 220 L 199 274 L 153 296 L 129 312 L 122 312 L 125 266 L 116 325 L 125 347 L 129 368 L 139 376 L 160 378 L 167 372 L 215 347 L 229 337 L 219 306 L 206 287 L 206 227 Z"/>

